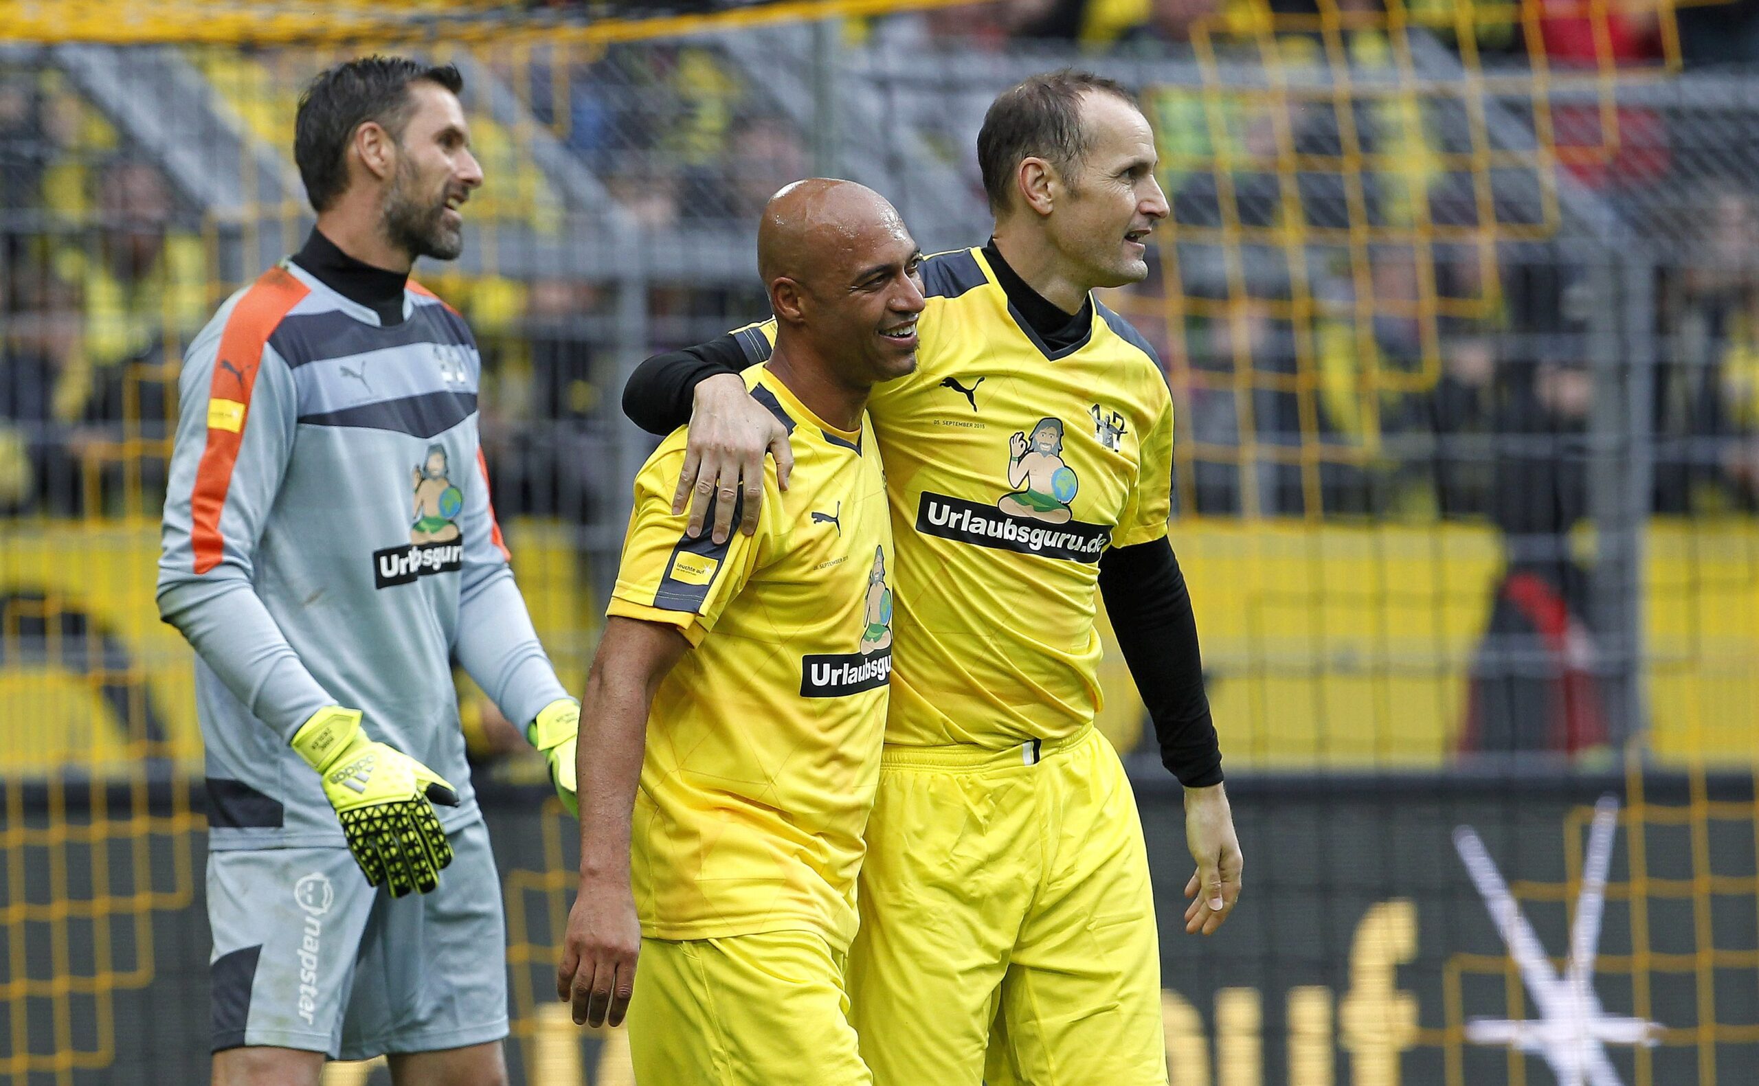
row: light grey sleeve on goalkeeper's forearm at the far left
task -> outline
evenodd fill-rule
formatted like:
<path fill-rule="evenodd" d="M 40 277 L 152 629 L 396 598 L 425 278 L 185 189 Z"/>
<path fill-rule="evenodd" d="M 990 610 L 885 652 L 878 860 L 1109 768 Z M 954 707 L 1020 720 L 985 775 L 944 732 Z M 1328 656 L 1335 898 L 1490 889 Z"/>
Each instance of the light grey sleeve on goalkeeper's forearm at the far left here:
<path fill-rule="evenodd" d="M 336 705 L 248 582 L 215 578 L 171 585 L 158 594 L 158 613 L 283 742 L 292 740 L 311 713 Z"/>

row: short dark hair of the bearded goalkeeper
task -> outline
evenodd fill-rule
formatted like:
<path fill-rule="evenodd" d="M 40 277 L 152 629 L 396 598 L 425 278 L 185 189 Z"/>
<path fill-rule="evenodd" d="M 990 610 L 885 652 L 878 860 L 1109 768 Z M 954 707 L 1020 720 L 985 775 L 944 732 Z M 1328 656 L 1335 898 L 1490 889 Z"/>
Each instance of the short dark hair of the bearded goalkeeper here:
<path fill-rule="evenodd" d="M 361 56 L 318 72 L 294 118 L 294 163 L 306 183 L 313 211 L 325 211 L 348 188 L 348 141 L 355 128 L 376 121 L 403 137 L 413 102 L 410 84 L 426 79 L 454 95 L 464 77 L 454 65 L 426 65 L 406 56 Z"/>

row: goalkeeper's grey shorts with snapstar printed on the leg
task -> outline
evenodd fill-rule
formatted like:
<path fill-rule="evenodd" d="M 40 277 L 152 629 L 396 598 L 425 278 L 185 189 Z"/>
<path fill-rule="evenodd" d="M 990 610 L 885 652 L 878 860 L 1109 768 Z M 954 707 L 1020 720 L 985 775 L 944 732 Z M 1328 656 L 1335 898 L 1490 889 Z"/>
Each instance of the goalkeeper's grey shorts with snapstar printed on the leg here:
<path fill-rule="evenodd" d="M 213 1047 L 366 1060 L 507 1037 L 507 924 L 489 831 L 449 835 L 433 893 L 392 898 L 348 849 L 208 854 Z"/>

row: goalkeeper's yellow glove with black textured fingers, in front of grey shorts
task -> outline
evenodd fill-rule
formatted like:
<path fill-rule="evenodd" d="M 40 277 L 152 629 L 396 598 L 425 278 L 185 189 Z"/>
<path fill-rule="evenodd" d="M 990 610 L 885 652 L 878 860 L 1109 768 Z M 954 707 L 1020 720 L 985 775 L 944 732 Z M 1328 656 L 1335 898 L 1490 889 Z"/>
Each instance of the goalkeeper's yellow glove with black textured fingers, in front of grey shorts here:
<path fill-rule="evenodd" d="M 457 793 L 445 778 L 366 738 L 357 708 L 320 708 L 294 733 L 292 747 L 324 777 L 324 798 L 336 808 L 369 886 L 385 884 L 392 898 L 401 898 L 440 884 L 452 845 L 433 805 L 457 807 Z"/>

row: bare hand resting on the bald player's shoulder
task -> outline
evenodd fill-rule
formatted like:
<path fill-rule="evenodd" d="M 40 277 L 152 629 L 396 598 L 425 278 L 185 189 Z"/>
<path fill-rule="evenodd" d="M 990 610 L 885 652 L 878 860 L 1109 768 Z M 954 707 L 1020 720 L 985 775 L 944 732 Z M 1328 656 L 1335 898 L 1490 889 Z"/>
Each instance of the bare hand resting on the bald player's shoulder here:
<path fill-rule="evenodd" d="M 690 504 L 686 532 L 702 534 L 709 503 L 714 501 L 714 541 L 725 543 L 732 532 L 734 506 L 744 490 L 744 517 L 739 531 L 753 534 L 758 529 L 758 510 L 763 506 L 763 457 L 776 457 L 776 481 L 788 489 L 793 471 L 793 448 L 788 445 L 788 427 L 769 408 L 751 399 L 746 383 L 737 374 L 719 374 L 697 385 L 695 408 L 690 415 L 690 445 L 684 448 L 684 471 L 677 476 L 672 496 L 672 513 L 682 513 Z M 691 497 L 695 496 L 695 497 Z"/>

